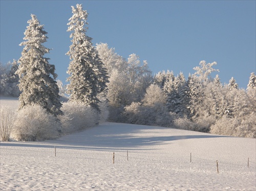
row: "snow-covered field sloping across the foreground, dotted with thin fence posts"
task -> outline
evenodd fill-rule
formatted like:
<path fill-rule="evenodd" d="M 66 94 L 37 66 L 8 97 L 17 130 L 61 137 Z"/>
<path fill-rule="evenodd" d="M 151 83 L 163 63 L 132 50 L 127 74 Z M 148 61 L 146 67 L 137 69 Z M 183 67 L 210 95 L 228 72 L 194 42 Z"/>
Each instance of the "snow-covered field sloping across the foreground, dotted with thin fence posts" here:
<path fill-rule="evenodd" d="M 104 123 L 0 149 L 1 190 L 256 190 L 250 138 Z"/>

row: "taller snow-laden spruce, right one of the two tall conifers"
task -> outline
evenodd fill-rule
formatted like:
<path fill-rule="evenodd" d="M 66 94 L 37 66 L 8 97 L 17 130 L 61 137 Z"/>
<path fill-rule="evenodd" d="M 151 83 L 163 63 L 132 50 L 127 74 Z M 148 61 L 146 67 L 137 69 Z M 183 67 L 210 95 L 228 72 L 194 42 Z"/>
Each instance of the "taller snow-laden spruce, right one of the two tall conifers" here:
<path fill-rule="evenodd" d="M 67 53 L 71 60 L 67 71 L 70 75 L 67 79 L 70 82 L 67 86 L 70 101 L 90 105 L 99 111 L 97 96 L 108 82 L 106 69 L 92 45 L 92 38 L 86 35 L 87 11 L 77 4 L 76 8 L 72 6 L 72 13 L 67 30 L 72 32 L 72 44 Z"/>

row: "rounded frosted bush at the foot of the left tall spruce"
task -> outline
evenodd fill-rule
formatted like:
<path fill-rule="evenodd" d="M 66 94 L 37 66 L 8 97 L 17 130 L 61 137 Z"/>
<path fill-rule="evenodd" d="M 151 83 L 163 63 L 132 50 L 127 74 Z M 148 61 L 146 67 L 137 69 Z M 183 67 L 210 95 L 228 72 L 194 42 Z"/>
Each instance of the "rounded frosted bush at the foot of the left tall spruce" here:
<path fill-rule="evenodd" d="M 39 105 L 25 106 L 18 111 L 12 137 L 16 140 L 35 141 L 59 136 L 60 123 Z"/>

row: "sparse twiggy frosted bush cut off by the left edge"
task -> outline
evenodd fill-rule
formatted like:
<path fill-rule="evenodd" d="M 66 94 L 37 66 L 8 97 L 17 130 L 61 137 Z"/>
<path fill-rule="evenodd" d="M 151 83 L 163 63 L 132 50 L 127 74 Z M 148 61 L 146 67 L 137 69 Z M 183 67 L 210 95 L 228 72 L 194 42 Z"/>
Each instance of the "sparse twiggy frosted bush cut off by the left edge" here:
<path fill-rule="evenodd" d="M 17 113 L 14 109 L 10 107 L 1 107 L 0 141 L 9 141 L 16 115 Z"/>

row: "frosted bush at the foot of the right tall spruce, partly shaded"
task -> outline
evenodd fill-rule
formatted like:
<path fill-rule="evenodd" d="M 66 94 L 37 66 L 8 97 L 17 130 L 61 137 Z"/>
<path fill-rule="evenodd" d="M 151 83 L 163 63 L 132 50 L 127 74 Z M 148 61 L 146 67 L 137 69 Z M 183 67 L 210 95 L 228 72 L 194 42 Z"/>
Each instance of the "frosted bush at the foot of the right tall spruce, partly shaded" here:
<path fill-rule="evenodd" d="M 71 133 L 92 127 L 99 122 L 96 109 L 81 103 L 63 103 L 62 111 L 64 115 L 59 115 L 61 122 L 61 132 Z"/>

